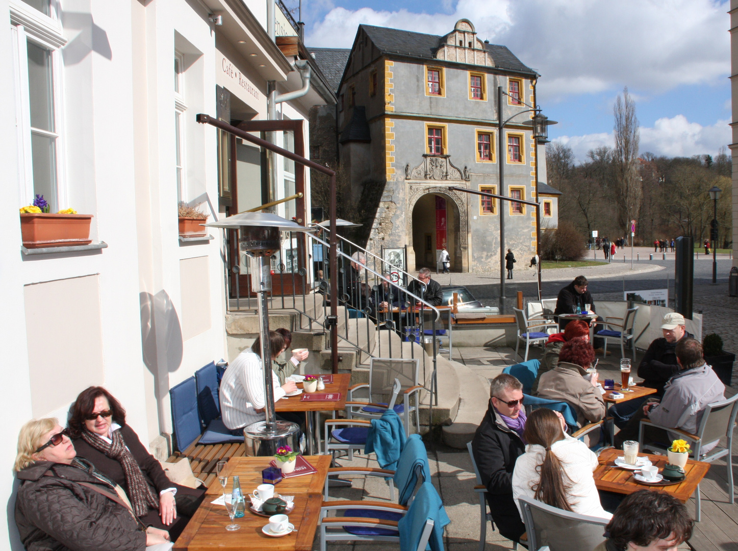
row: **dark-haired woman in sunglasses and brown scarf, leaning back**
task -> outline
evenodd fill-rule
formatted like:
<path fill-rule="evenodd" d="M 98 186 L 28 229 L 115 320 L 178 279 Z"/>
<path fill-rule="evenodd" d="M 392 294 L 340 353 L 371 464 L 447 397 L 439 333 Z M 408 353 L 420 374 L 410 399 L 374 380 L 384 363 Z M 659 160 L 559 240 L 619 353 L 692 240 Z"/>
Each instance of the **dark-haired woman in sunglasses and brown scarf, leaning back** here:
<path fill-rule="evenodd" d="M 170 482 L 125 423 L 125 409 L 102 386 L 83 390 L 67 423 L 77 453 L 125 490 L 144 524 L 168 530 L 172 541 L 202 502 L 204 490 Z"/>

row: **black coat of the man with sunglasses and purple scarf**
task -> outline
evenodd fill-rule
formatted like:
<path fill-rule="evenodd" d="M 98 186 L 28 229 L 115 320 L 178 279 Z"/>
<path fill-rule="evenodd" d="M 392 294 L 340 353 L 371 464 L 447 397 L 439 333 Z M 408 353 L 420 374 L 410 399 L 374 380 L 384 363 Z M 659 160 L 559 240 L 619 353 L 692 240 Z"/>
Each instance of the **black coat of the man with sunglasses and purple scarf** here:
<path fill-rule="evenodd" d="M 512 471 L 517 458 L 525 453 L 523 440 L 497 419 L 489 404 L 484 419 L 472 440 L 472 453 L 482 484 L 487 487 L 487 503 L 500 534 L 518 541 L 525 524 L 512 497 Z"/>

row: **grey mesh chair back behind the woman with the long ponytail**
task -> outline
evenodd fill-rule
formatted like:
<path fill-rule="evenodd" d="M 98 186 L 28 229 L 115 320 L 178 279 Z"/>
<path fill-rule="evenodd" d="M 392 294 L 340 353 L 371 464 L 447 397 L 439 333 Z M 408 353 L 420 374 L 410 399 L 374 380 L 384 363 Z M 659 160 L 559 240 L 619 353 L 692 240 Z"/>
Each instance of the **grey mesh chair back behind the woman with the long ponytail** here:
<path fill-rule="evenodd" d="M 609 521 L 551 507 L 537 499 L 518 498 L 528 534 L 528 549 L 548 546 L 551 551 L 592 551 L 604 541 Z"/>

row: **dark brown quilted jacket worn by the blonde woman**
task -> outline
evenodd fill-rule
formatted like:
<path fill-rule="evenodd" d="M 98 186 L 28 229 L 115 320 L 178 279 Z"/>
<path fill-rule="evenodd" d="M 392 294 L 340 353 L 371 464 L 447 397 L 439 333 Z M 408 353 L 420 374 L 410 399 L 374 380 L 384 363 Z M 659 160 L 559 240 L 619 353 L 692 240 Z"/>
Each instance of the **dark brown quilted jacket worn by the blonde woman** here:
<path fill-rule="evenodd" d="M 91 468 L 92 470 L 92 468 Z M 44 476 L 49 471 L 52 476 Z M 144 551 L 131 511 L 78 482 L 115 493 L 75 465 L 35 462 L 18 474 L 15 524 L 27 551 Z"/>

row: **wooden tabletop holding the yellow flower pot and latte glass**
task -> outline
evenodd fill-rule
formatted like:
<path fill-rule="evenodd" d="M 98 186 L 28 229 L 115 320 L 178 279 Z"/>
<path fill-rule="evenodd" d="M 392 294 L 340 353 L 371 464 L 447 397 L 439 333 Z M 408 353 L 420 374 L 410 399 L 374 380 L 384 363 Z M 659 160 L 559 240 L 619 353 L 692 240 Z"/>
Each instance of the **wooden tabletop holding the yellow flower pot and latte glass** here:
<path fill-rule="evenodd" d="M 599 466 L 594 472 L 595 485 L 598 490 L 607 490 L 609 492 L 625 494 L 630 494 L 644 489 L 658 490 L 670 493 L 680 502 L 686 503 L 686 501 L 692 497 L 694 490 L 697 489 L 697 485 L 700 484 L 700 480 L 705 478 L 707 471 L 710 469 L 709 463 L 689 459 L 684 467 L 686 476 L 682 482 L 669 486 L 646 485 L 635 481 L 632 476 L 632 470 L 615 467 L 615 458 L 622 456 L 622 454 L 622 450 L 615 450 L 613 448 L 604 450 L 600 454 Z M 638 456 L 648 457 L 652 464 L 659 468 L 660 472 L 667 463 L 666 456 L 651 454 L 638 454 Z"/>

